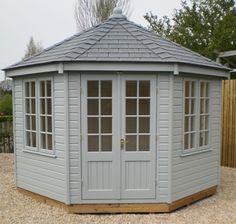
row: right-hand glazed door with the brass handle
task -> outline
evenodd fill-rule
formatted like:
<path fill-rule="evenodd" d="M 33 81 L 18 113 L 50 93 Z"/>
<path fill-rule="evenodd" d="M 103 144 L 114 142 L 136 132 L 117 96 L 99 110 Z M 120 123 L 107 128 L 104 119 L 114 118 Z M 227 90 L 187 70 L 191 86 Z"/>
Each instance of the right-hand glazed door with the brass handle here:
<path fill-rule="evenodd" d="M 156 78 L 121 79 L 121 198 L 155 198 Z"/>

